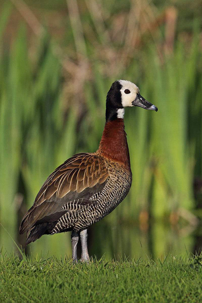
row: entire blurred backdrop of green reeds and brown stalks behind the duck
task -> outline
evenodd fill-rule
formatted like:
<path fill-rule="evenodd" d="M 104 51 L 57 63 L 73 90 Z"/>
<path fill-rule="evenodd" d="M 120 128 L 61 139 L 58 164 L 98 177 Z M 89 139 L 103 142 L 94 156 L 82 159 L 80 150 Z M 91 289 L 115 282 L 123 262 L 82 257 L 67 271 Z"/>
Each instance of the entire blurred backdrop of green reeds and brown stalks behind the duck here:
<path fill-rule="evenodd" d="M 202 1 L 0 2 L 0 222 L 19 224 L 46 177 L 94 152 L 113 81 L 136 83 L 159 111 L 126 109 L 133 183 L 89 231 L 90 254 L 181 254 L 202 247 Z M 0 228 L 7 251 L 14 244 Z M 28 254 L 71 254 L 70 234 Z"/>

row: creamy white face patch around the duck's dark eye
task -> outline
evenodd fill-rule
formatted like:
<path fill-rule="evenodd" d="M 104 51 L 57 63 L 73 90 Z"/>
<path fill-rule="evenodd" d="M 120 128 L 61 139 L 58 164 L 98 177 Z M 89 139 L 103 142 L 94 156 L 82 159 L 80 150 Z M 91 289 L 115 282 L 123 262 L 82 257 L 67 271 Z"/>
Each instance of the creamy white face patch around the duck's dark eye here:
<path fill-rule="evenodd" d="M 137 85 L 127 80 L 118 80 L 118 82 L 122 85 L 121 88 L 121 101 L 122 106 L 133 106 L 132 102 L 136 98 L 137 94 L 140 92 Z M 128 90 L 130 93 L 128 93 Z M 125 92 L 126 91 L 126 92 Z"/>

